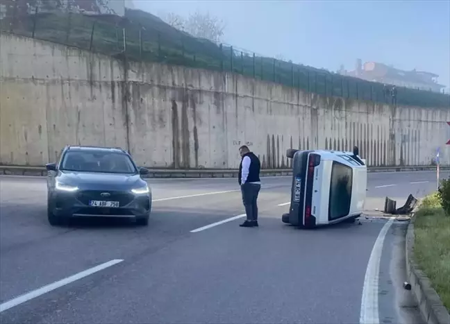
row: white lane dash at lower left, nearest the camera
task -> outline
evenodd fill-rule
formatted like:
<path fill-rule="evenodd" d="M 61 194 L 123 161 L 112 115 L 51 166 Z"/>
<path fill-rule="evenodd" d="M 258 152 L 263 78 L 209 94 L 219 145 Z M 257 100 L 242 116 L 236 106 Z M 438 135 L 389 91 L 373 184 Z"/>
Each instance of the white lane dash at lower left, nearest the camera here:
<path fill-rule="evenodd" d="M 122 261 L 124 261 L 124 260 L 123 259 L 113 259 L 113 260 L 105 262 L 103 264 L 99 264 L 98 266 L 94 266 L 93 268 L 88 268 L 88 270 L 76 273 L 75 275 L 71 275 L 70 277 L 64 278 L 63 280 L 53 282 L 52 284 L 47 284 L 47 286 L 44 286 L 39 289 L 35 289 L 33 291 L 25 293 L 24 295 L 16 297 L 11 300 L 8 300 L 7 302 L 3 302 L 3 304 L 0 305 L 0 313 L 6 311 L 7 309 L 15 307 L 17 305 L 23 304 L 24 302 L 27 302 L 28 300 L 31 300 L 33 298 L 44 295 L 44 293 L 48 293 L 50 291 L 53 291 L 60 287 L 63 287 L 66 284 L 70 284 L 71 282 L 85 278 L 88 275 L 92 275 L 92 273 L 96 273 L 96 272 L 101 271 L 110 266 L 114 266 L 115 264 L 118 264 Z"/>

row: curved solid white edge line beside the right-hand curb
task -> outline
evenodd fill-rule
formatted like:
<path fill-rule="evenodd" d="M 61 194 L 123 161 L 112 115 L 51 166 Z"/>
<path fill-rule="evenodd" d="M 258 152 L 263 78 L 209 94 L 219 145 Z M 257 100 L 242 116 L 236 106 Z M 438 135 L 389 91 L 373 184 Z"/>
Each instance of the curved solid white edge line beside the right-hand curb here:
<path fill-rule="evenodd" d="M 363 284 L 363 296 L 361 297 L 360 324 L 376 324 L 380 323 L 378 314 L 378 284 L 380 275 L 381 254 L 383 253 L 383 244 L 394 219 L 390 219 L 381 228 L 376 238 Z"/>

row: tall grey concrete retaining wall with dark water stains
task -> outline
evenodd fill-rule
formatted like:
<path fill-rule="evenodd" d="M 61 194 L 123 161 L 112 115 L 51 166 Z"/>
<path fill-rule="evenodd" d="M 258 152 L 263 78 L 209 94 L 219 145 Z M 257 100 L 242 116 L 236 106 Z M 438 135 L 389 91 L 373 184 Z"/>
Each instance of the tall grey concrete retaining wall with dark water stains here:
<path fill-rule="evenodd" d="M 263 167 L 287 148 L 351 150 L 369 166 L 449 164 L 449 108 L 324 97 L 235 74 L 125 63 L 1 33 L 0 163 L 42 165 L 65 144 L 128 148 L 155 168 L 230 169 L 250 146 Z"/>

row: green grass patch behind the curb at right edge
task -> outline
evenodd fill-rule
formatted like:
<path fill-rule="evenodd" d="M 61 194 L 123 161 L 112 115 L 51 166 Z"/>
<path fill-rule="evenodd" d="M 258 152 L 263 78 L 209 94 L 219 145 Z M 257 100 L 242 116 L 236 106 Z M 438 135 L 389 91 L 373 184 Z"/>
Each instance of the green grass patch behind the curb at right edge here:
<path fill-rule="evenodd" d="M 415 217 L 416 262 L 450 312 L 450 216 L 439 196 L 432 194 L 424 198 Z"/>

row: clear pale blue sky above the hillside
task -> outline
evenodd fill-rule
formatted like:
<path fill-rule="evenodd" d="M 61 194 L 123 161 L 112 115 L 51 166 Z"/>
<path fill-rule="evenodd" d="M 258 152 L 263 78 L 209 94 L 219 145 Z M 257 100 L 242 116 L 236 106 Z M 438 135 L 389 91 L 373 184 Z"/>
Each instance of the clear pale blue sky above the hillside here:
<path fill-rule="evenodd" d="M 164 17 L 209 12 L 226 23 L 223 40 L 264 56 L 337 71 L 356 59 L 438 74 L 450 89 L 450 0 L 132 0 Z"/>

